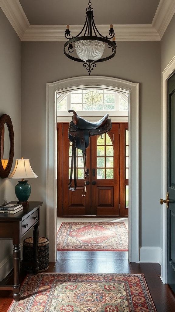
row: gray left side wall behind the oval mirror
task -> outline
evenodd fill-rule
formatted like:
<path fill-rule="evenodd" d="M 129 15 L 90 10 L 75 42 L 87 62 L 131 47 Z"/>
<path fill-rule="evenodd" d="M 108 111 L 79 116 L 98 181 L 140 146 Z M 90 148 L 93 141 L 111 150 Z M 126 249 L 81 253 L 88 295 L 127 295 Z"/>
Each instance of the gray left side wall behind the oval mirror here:
<path fill-rule="evenodd" d="M 21 41 L 0 9 L 0 116 L 7 114 L 12 119 L 14 130 L 14 162 L 21 158 Z M 7 197 L 15 199 L 17 180 L 0 178 L 0 203 Z M 0 241 L 0 264 L 12 252 L 12 241 Z M 0 266 L 1 268 L 1 266 Z M 3 267 L 3 276 L 8 273 Z"/>

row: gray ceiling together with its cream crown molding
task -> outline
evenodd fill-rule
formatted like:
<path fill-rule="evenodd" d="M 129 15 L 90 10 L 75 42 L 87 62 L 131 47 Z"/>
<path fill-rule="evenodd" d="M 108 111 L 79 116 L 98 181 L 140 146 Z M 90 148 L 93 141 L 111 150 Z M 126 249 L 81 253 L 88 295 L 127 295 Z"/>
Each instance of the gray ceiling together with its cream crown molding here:
<path fill-rule="evenodd" d="M 161 40 L 175 13 L 175 0 L 92 0 L 95 24 L 116 41 Z M 70 25 L 77 35 L 84 25 L 87 0 L 0 0 L 0 7 L 21 41 L 66 41 Z"/>

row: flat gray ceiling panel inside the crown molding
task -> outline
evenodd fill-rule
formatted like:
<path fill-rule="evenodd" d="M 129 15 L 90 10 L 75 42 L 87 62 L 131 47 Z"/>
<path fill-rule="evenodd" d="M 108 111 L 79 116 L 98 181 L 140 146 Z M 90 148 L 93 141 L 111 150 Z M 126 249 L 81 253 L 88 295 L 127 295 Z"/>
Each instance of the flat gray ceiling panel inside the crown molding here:
<path fill-rule="evenodd" d="M 151 24 L 160 0 L 92 0 L 96 24 Z M 87 0 L 19 0 L 31 25 L 84 24 Z"/>

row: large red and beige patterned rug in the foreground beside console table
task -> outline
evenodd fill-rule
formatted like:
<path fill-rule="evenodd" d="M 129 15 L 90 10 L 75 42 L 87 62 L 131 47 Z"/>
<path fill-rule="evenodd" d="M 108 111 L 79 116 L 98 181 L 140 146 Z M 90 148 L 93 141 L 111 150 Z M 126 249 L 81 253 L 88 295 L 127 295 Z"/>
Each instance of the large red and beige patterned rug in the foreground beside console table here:
<path fill-rule="evenodd" d="M 156 312 L 143 274 L 29 274 L 7 312 Z"/>

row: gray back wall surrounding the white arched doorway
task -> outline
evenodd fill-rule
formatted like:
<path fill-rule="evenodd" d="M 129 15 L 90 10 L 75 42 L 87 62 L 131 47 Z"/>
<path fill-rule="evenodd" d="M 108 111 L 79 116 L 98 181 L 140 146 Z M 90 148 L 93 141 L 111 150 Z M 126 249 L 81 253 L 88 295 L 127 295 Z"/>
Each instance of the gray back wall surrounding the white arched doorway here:
<path fill-rule="evenodd" d="M 46 83 L 88 75 L 64 56 L 63 42 L 22 42 L 21 151 L 38 175 L 30 200 L 44 202 L 45 235 Z M 140 246 L 160 246 L 160 42 L 118 42 L 116 56 L 93 74 L 140 83 Z M 155 227 L 156 225 L 156 227 Z"/>

